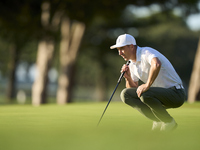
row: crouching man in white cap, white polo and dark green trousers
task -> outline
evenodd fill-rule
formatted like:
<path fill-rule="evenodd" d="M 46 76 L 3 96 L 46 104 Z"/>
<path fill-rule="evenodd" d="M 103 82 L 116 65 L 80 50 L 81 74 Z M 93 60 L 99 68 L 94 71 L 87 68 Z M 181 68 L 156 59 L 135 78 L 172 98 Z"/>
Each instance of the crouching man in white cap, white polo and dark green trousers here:
<path fill-rule="evenodd" d="M 131 61 L 121 69 L 126 80 L 122 101 L 152 120 L 152 130 L 175 129 L 177 123 L 166 109 L 180 107 L 186 94 L 169 60 L 153 48 L 137 46 L 129 34 L 120 35 L 110 48 L 117 48 L 125 61 Z M 139 85 L 139 80 L 143 84 Z"/>

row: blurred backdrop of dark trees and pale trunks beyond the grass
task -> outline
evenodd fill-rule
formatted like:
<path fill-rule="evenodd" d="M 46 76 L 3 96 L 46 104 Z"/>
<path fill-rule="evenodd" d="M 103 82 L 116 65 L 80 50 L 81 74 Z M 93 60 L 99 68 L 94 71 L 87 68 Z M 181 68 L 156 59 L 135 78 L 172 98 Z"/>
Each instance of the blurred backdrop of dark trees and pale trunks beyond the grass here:
<path fill-rule="evenodd" d="M 164 54 L 188 91 L 200 0 L 1 0 L 0 104 L 108 100 L 126 63 L 110 46 L 124 33 Z"/>

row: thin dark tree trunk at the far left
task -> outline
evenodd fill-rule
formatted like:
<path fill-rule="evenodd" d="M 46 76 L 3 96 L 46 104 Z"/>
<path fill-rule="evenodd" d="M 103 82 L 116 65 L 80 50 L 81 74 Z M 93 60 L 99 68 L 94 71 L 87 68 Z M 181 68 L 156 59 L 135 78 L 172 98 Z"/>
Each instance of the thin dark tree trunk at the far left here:
<path fill-rule="evenodd" d="M 10 48 L 10 61 L 9 61 L 9 78 L 8 78 L 8 86 L 7 86 L 7 100 L 10 101 L 13 98 L 15 98 L 15 72 L 16 72 L 16 66 L 17 66 L 17 48 L 13 44 Z"/>

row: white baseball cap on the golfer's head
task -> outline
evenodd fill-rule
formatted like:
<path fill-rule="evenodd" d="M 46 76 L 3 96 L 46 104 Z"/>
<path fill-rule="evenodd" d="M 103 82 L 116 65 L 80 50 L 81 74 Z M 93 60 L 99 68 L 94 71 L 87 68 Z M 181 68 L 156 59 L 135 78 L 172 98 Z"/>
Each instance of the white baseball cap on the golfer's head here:
<path fill-rule="evenodd" d="M 131 44 L 136 45 L 135 38 L 130 34 L 122 34 L 117 38 L 116 44 L 111 46 L 110 49 L 123 47 Z"/>

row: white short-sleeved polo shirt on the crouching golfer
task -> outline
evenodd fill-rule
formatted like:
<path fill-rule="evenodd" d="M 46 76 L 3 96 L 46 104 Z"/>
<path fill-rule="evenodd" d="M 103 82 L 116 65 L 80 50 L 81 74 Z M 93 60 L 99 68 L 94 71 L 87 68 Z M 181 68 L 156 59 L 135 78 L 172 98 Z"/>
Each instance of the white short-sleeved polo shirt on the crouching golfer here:
<path fill-rule="evenodd" d="M 137 47 L 136 62 L 131 61 L 129 68 L 133 81 L 147 82 L 152 58 L 157 57 L 162 65 L 151 87 L 170 88 L 182 85 L 182 81 L 169 60 L 157 50 L 150 47 Z"/>

